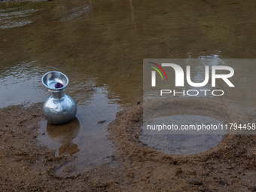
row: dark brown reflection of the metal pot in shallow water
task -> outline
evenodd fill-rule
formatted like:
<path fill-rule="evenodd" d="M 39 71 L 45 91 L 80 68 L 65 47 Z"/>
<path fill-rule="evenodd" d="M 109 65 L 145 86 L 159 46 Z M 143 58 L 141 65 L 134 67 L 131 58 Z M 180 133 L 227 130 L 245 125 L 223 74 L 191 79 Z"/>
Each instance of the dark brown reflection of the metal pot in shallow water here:
<path fill-rule="evenodd" d="M 59 148 L 59 156 L 63 153 L 70 155 L 78 153 L 78 145 L 72 143 L 80 130 L 78 118 L 64 125 L 52 125 L 47 123 L 47 133 L 54 142 L 59 142 L 62 146 Z"/>

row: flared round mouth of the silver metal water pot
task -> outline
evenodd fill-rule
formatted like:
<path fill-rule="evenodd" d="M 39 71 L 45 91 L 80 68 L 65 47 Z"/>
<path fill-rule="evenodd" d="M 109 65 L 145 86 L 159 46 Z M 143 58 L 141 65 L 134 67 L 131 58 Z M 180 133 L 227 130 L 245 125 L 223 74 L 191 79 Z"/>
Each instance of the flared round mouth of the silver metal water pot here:
<path fill-rule="evenodd" d="M 61 72 L 47 72 L 41 81 L 49 90 L 64 90 L 69 84 L 69 78 Z M 63 87 L 55 88 L 56 83 L 61 83 Z"/>

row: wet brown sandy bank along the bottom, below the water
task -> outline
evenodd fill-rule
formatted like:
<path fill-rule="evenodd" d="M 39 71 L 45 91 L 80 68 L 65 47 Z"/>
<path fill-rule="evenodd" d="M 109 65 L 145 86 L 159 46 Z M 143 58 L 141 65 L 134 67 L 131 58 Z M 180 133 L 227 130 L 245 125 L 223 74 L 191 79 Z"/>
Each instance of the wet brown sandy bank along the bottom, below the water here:
<path fill-rule="evenodd" d="M 38 145 L 41 108 L 42 103 L 0 109 L 1 191 L 256 190 L 256 136 L 226 136 L 217 147 L 190 156 L 163 154 L 139 139 L 142 103 L 121 111 L 110 123 L 110 138 L 117 147 L 110 163 L 58 177 L 54 171 L 76 157 L 54 157 L 54 151 Z M 72 172 L 74 166 L 62 171 Z"/>

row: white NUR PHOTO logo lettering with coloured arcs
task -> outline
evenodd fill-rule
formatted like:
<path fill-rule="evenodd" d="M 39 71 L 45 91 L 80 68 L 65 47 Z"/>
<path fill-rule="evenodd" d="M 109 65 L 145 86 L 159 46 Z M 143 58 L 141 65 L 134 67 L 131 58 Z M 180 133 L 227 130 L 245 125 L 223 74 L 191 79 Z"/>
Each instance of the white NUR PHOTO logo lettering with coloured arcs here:
<path fill-rule="evenodd" d="M 151 63 L 150 66 L 148 66 L 148 69 L 154 69 L 151 70 L 151 87 L 163 87 L 158 86 L 159 84 L 165 84 L 164 89 L 160 89 L 160 96 L 163 96 L 163 94 L 170 94 L 172 93 L 173 96 L 176 95 L 187 95 L 187 96 L 198 96 L 200 93 L 203 93 L 203 96 L 209 95 L 209 93 L 212 94 L 212 96 L 222 96 L 224 95 L 224 90 L 217 89 L 217 90 L 209 90 L 209 89 L 203 89 L 204 87 L 218 87 L 216 80 L 218 82 L 222 81 L 221 84 L 226 84 L 228 87 L 235 87 L 234 84 L 230 81 L 230 78 L 234 75 L 234 69 L 230 66 L 201 66 L 200 67 L 200 75 L 202 78 L 199 82 L 195 82 L 193 80 L 194 76 L 197 76 L 197 72 L 192 74 L 191 68 L 189 65 L 184 66 L 183 68 L 175 63 L 172 62 L 162 62 L 160 64 L 157 64 L 156 62 L 148 62 Z M 148 71 L 147 69 L 147 71 Z M 185 69 L 185 70 L 184 70 Z M 175 75 L 169 75 L 169 73 L 172 71 Z M 157 72 L 161 77 L 161 81 L 157 80 Z M 169 78 L 167 78 L 167 75 Z M 165 78 L 164 78 L 165 76 Z M 158 78 L 159 79 L 159 78 Z M 209 82 L 211 80 L 211 82 Z M 169 84 L 173 84 L 173 81 L 175 82 L 175 87 L 186 87 L 184 84 L 187 83 L 189 87 L 201 87 L 202 89 L 189 89 L 189 90 L 171 90 L 167 89 Z M 186 82 L 185 82 L 186 81 Z M 198 79 L 197 79 L 198 81 Z"/>

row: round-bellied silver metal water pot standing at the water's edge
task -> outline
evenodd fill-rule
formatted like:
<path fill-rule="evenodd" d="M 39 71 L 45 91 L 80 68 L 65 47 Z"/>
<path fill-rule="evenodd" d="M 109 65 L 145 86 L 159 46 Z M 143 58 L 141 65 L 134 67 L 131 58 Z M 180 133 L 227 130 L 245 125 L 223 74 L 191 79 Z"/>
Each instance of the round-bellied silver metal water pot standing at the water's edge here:
<path fill-rule="evenodd" d="M 75 119 L 77 105 L 72 97 L 64 94 L 69 78 L 61 72 L 47 72 L 41 79 L 52 93 L 43 106 L 45 119 L 51 124 L 69 123 Z"/>

